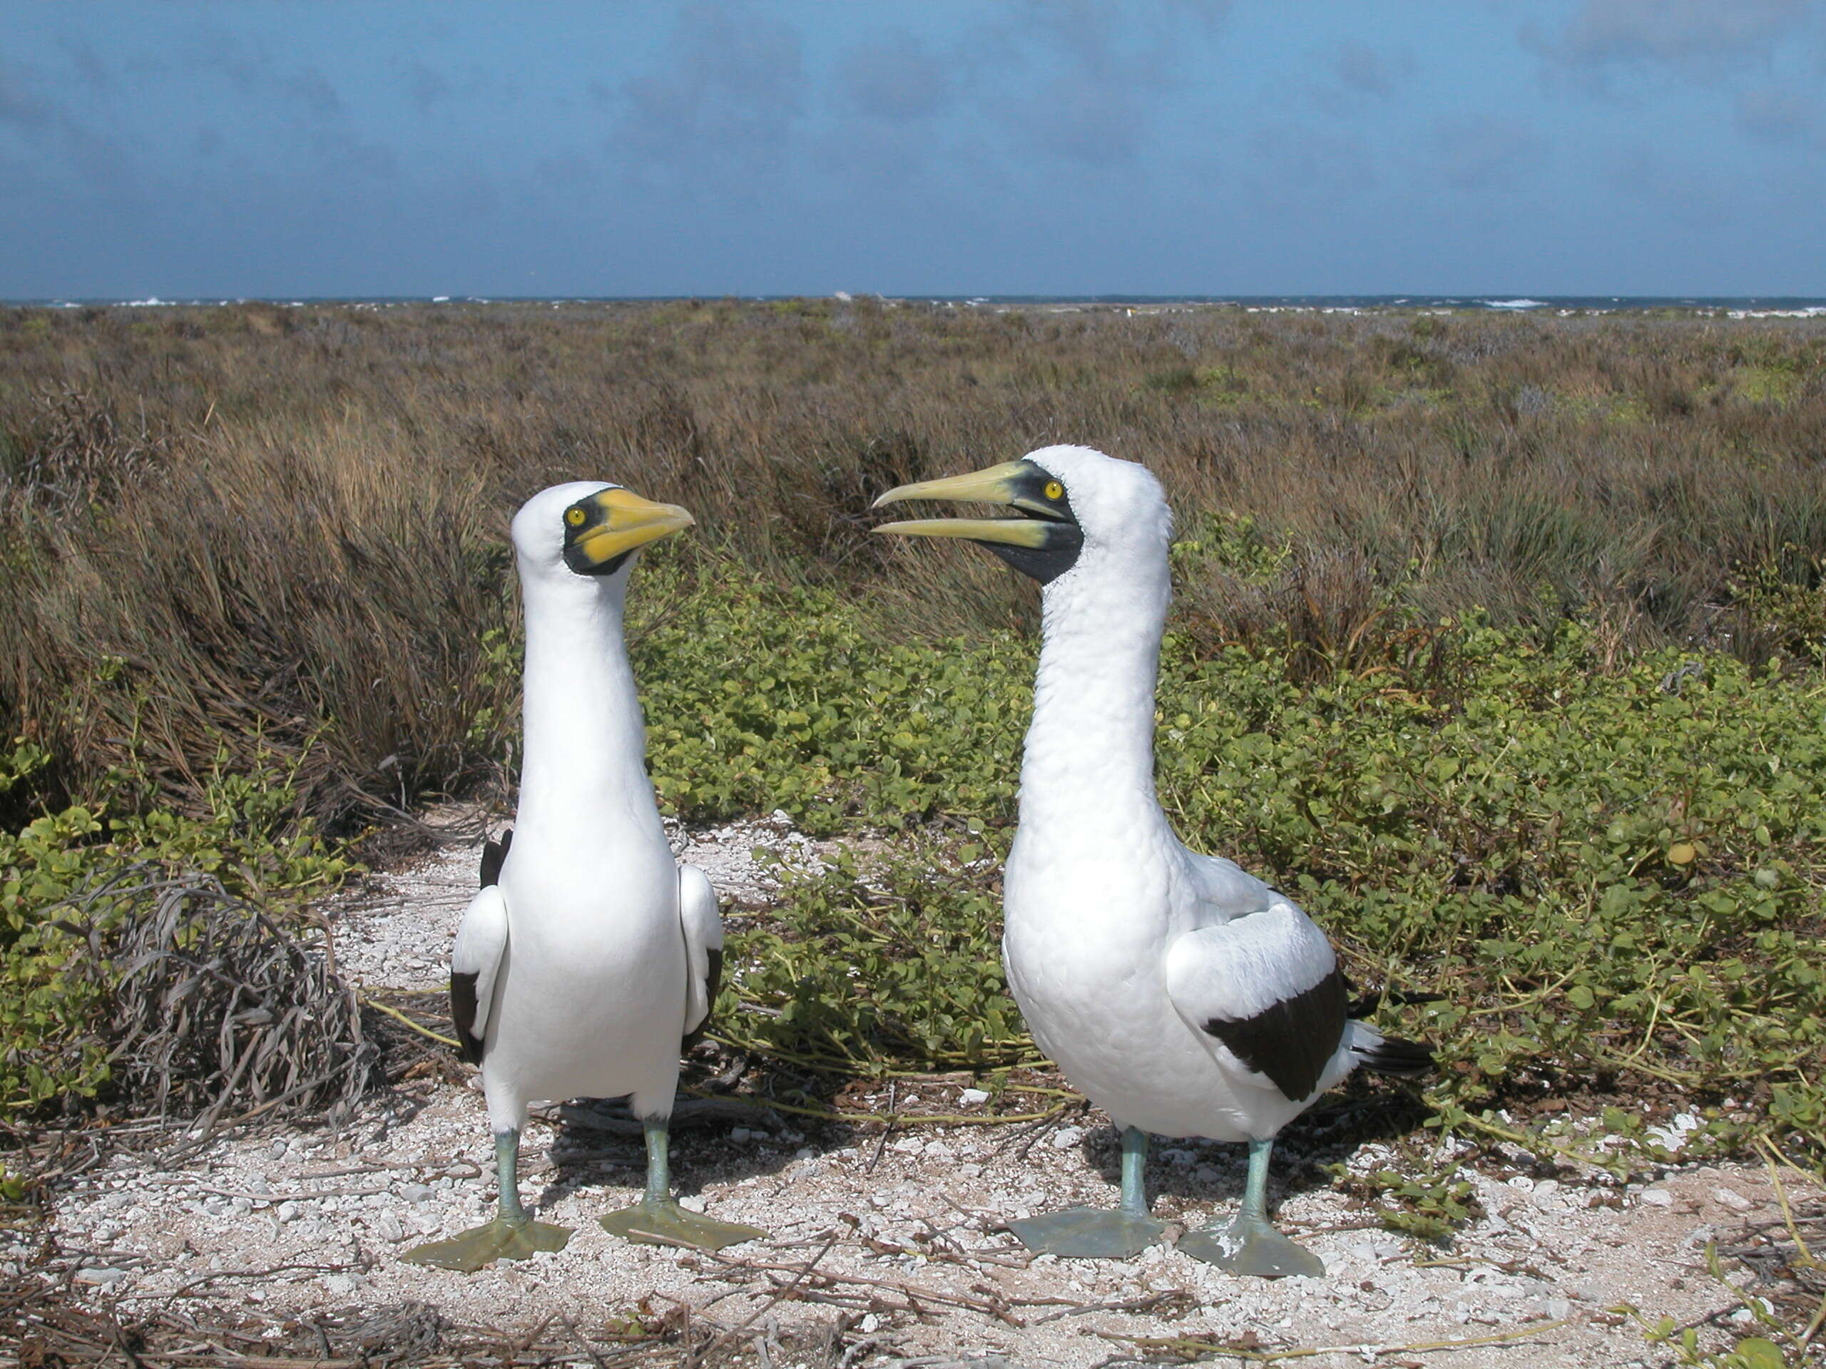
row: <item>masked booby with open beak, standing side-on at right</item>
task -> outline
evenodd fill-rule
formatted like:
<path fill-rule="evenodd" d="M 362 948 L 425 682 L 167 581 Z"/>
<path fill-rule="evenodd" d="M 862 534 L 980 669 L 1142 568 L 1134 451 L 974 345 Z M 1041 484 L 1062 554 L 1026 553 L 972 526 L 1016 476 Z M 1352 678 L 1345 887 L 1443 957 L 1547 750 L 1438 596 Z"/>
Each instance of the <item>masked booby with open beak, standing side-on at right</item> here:
<path fill-rule="evenodd" d="M 1359 1064 L 1421 1073 L 1422 1046 L 1349 1020 L 1324 933 L 1234 863 L 1187 851 L 1154 792 L 1154 683 L 1172 531 L 1160 482 L 1088 447 L 1043 447 L 902 500 L 999 504 L 1013 518 L 882 524 L 960 537 L 1043 590 L 1002 960 L 1034 1040 L 1123 1128 L 1121 1207 L 1010 1223 L 1034 1250 L 1132 1256 L 1158 1239 L 1147 1134 L 1249 1144 L 1242 1210 L 1180 1249 L 1238 1274 L 1324 1274 L 1267 1219 L 1275 1134 Z"/>

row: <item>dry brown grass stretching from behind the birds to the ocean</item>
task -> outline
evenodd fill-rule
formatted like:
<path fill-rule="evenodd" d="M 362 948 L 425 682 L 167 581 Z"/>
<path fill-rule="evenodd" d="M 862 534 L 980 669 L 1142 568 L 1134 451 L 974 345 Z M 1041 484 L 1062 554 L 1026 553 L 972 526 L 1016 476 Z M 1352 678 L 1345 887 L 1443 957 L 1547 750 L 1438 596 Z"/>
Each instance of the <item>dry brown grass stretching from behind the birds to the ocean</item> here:
<path fill-rule="evenodd" d="M 712 573 L 948 633 L 1032 597 L 869 538 L 869 500 L 1061 440 L 1286 553 L 1185 568 L 1209 641 L 1360 668 L 1481 606 L 1601 621 L 1612 653 L 1764 650 L 1733 580 L 1826 555 L 1822 356 L 1817 325 L 1678 316 L 0 310 L 0 717 L 84 781 L 131 761 L 177 796 L 252 739 L 347 816 L 486 763 L 469 728 L 511 681 L 478 639 L 511 622 L 502 529 L 540 486 L 679 500 Z"/>

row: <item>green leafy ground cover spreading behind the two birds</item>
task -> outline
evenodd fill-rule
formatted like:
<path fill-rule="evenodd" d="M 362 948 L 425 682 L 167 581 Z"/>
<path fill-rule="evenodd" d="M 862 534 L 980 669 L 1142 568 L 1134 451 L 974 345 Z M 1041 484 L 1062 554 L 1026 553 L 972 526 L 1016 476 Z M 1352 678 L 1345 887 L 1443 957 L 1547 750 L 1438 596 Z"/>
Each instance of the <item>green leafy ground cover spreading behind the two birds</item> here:
<path fill-rule="evenodd" d="M 1030 1061 L 999 966 L 997 858 L 1034 644 L 882 643 L 831 591 L 727 566 L 641 575 L 659 606 L 634 630 L 666 807 L 886 831 L 867 869 L 794 880 L 778 918 L 736 936 L 730 1033 L 829 1071 Z M 502 653 L 511 666 L 511 641 Z M 1647 1124 L 1678 1104 L 1709 1121 L 1689 1154 L 1773 1135 L 1821 1157 L 1815 672 L 1662 652 L 1605 674 L 1585 628 L 1539 646 L 1474 621 L 1437 630 L 1424 666 L 1300 684 L 1275 653 L 1209 653 L 1181 632 L 1158 745 L 1191 845 L 1295 894 L 1360 986 L 1439 995 L 1388 1011 L 1441 1048 L 1433 1126 L 1587 1155 L 1596 1126 L 1654 1154 Z M 51 1051 L 57 1075 L 33 1044 L 80 1035 L 88 1011 L 60 995 L 68 947 L 35 909 L 146 852 L 265 889 L 336 874 L 309 832 L 283 834 L 283 776 L 265 785 L 223 778 L 203 818 L 79 807 L 0 838 L 9 1106 L 99 1082 L 93 1055 Z M 1565 1112 L 1536 1106 L 1561 1097 Z"/>

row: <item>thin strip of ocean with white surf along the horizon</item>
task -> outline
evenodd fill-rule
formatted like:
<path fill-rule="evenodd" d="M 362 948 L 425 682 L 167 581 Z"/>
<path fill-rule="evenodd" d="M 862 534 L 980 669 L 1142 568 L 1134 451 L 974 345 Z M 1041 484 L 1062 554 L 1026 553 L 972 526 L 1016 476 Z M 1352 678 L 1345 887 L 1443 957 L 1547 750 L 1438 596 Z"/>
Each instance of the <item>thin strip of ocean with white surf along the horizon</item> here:
<path fill-rule="evenodd" d="M 46 307 L 46 308 L 86 308 L 95 305 L 155 308 L 170 305 L 354 305 L 363 308 L 387 308 L 396 305 L 610 305 L 637 303 L 652 299 L 685 299 L 692 296 L 374 296 L 374 298 L 247 298 L 247 299 L 7 299 L 0 303 Z M 701 296 L 719 298 L 719 296 Z M 752 299 L 800 299 L 805 296 L 747 296 Z M 836 299 L 849 299 L 847 292 L 838 292 Z M 1483 310 L 1516 314 L 1616 314 L 1643 310 L 1691 310 L 1696 314 L 1724 314 L 1729 318 L 1821 318 L 1826 319 L 1826 298 L 1817 296 L 1508 296 L 1508 294 L 1185 294 L 1185 296 L 1145 296 L 1145 294 L 988 294 L 988 296 L 898 296 L 900 299 L 953 305 L 960 308 L 1185 308 L 1192 305 L 1229 305 L 1251 312 L 1324 312 L 1355 314 L 1368 310 Z"/>

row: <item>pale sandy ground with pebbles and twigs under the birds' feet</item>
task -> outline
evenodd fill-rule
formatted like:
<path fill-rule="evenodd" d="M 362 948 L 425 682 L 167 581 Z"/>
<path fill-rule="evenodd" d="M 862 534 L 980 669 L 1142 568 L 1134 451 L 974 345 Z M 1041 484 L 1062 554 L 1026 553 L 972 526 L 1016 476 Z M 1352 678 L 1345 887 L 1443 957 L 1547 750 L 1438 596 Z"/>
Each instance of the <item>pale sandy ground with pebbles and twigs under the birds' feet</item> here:
<path fill-rule="evenodd" d="M 676 845 L 750 909 L 772 894 L 754 845 L 818 854 L 778 820 L 679 831 Z M 329 911 L 343 967 L 374 986 L 442 984 L 475 862 L 473 847 L 446 847 L 338 900 Z M 856 1128 L 860 1139 L 834 1143 L 756 1113 L 681 1126 L 674 1143 L 688 1205 L 771 1232 L 716 1258 L 628 1245 L 595 1225 L 639 1194 L 637 1135 L 535 1121 L 522 1190 L 544 1221 L 575 1234 L 561 1252 L 462 1276 L 400 1254 L 489 1214 L 482 1099 L 464 1082 L 413 1090 L 374 1099 L 340 1135 L 226 1137 L 172 1170 L 117 1155 L 58 1196 L 55 1238 L 77 1287 L 122 1311 L 172 1298 L 268 1316 L 427 1303 L 502 1327 L 551 1316 L 603 1327 L 688 1305 L 729 1329 L 754 1316 L 738 1338 L 778 1369 L 791 1364 L 780 1347 L 813 1325 L 829 1327 L 855 1365 L 1103 1365 L 1138 1354 L 1136 1338 L 1143 1351 L 1149 1338 L 1333 1347 L 1315 1365 L 1660 1365 L 1673 1356 L 1618 1309 L 1682 1323 L 1724 1312 L 1705 1323 L 1713 1345 L 1751 1334 L 1737 1289 L 1705 1272 L 1704 1249 L 1779 1216 L 1757 1168 L 1685 1168 L 1631 1186 L 1596 1172 L 1492 1168 L 1468 1174 L 1486 1216 L 1433 1247 L 1380 1230 L 1318 1179 L 1276 1190 L 1278 1221 L 1328 1276 L 1236 1280 L 1169 1245 L 1132 1261 L 1059 1261 L 999 1230 L 1004 1217 L 1114 1199 L 1116 1132 L 1096 1113 L 1043 1130 Z M 968 1115 L 982 1099 L 959 1088 L 950 1104 Z M 1348 1163 L 1368 1172 L 1391 1159 L 1366 1144 Z M 1791 1199 L 1817 1197 L 1789 1177 Z M 1234 1208 L 1240 1188 L 1238 1146 L 1156 1144 L 1156 1216 L 1203 1227 Z M 29 1254 L 0 1247 L 0 1263 Z M 776 1298 L 789 1283 L 802 1296 Z"/>

